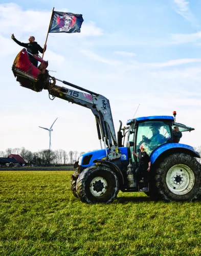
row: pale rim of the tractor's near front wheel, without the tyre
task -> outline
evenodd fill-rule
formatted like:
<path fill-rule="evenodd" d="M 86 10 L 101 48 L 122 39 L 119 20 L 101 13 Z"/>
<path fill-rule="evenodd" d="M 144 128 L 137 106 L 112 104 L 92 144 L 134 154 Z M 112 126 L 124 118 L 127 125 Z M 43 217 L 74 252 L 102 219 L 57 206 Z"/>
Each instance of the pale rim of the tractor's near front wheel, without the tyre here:
<path fill-rule="evenodd" d="M 107 181 L 103 177 L 95 177 L 90 183 L 90 191 L 94 197 L 101 197 L 107 191 Z"/>

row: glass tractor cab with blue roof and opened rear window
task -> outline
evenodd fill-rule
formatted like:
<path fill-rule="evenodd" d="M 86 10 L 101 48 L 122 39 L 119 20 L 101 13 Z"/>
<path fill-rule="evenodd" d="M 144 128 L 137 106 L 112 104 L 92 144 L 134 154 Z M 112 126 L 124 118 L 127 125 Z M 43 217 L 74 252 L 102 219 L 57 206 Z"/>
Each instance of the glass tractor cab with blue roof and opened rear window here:
<path fill-rule="evenodd" d="M 158 147 L 173 143 L 173 127 L 178 126 L 181 132 L 194 129 L 181 123 L 176 123 L 172 116 L 149 116 L 130 119 L 127 147 L 130 151 L 132 162 L 135 162 L 132 152 L 138 152 L 144 143 L 145 151 L 150 156 Z"/>

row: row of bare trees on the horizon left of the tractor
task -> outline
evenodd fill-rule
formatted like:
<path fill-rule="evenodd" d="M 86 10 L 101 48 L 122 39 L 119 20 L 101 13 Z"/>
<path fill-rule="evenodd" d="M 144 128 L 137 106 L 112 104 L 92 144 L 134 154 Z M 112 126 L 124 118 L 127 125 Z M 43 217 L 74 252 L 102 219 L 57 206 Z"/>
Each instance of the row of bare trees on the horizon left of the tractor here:
<path fill-rule="evenodd" d="M 6 151 L 0 151 L 0 157 L 8 157 L 11 154 L 21 156 L 28 164 L 36 166 L 45 166 L 48 164 L 61 165 L 73 164 L 78 157 L 85 152 L 78 154 L 77 151 L 66 152 L 62 149 L 49 152 L 49 150 L 41 150 L 38 152 L 31 152 L 25 147 L 21 148 L 7 148 Z"/>

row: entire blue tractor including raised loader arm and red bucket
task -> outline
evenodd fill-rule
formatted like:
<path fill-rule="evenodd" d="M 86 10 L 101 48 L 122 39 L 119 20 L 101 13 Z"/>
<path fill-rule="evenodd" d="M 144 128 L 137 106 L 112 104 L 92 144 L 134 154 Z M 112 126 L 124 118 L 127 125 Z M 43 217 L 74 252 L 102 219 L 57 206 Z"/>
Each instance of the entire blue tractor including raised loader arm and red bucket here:
<path fill-rule="evenodd" d="M 42 59 L 36 68 L 29 61 L 23 49 L 13 63 L 13 73 L 20 85 L 40 92 L 46 89 L 50 95 L 91 109 L 95 115 L 101 150 L 88 152 L 74 164 L 76 169 L 71 177 L 73 195 L 86 203 L 110 203 L 116 199 L 119 190 L 138 192 L 142 185 L 136 179 L 139 160 L 137 152 L 142 142 L 148 144 L 151 161 L 149 186 L 146 194 L 165 201 L 192 201 L 201 193 L 201 168 L 196 158 L 199 154 L 190 145 L 175 143 L 173 126 L 181 132 L 194 129 L 175 121 L 173 116 L 138 117 L 127 121 L 122 128 L 120 121 L 116 136 L 109 100 L 104 96 L 75 86 L 72 83 L 51 77 L 48 62 Z M 37 56 L 36 56 L 37 57 Z M 56 85 L 56 80 L 73 89 Z M 151 128 L 157 127 L 160 142 L 151 142 Z M 124 140 L 127 136 L 126 146 Z M 102 148 L 102 144 L 104 148 Z"/>

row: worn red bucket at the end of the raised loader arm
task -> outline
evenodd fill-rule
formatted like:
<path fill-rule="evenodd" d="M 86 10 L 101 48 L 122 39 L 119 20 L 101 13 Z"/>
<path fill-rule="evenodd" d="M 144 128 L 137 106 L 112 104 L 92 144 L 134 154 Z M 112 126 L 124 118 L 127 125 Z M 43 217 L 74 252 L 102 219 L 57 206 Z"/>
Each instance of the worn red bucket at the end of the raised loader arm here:
<path fill-rule="evenodd" d="M 41 92 L 42 89 L 49 89 L 51 84 L 48 70 L 48 61 L 44 61 L 36 55 L 33 58 L 40 61 L 39 67 L 35 67 L 29 60 L 26 49 L 21 50 L 12 66 L 12 71 L 20 86 L 31 89 L 35 92 Z"/>

